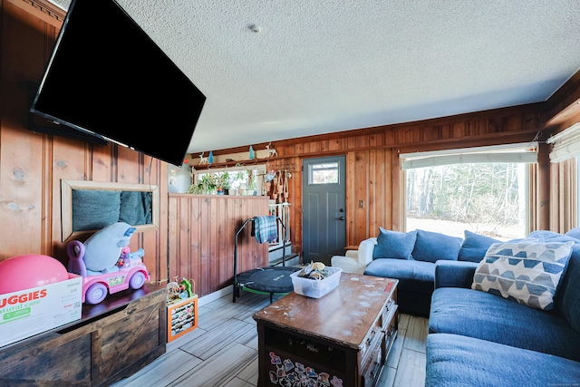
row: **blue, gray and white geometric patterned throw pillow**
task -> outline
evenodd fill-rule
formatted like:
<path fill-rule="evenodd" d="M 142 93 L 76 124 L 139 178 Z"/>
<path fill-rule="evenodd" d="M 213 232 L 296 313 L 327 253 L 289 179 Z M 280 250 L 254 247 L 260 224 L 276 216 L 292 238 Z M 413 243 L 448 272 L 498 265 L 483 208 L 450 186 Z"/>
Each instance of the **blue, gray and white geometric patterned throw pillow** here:
<path fill-rule="evenodd" d="M 479 262 L 471 288 L 550 310 L 573 245 L 571 241 L 494 243 Z"/>

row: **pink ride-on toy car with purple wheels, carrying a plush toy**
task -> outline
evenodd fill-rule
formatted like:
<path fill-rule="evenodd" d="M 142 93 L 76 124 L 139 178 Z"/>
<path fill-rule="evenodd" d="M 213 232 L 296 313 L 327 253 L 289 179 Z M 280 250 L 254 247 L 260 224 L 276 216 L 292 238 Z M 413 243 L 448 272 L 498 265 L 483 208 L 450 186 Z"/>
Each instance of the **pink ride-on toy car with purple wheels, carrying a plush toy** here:
<path fill-rule="evenodd" d="M 67 246 L 69 271 L 82 276 L 83 303 L 99 304 L 108 294 L 129 288 L 139 289 L 146 281 L 150 281 L 147 267 L 141 260 L 141 256 L 144 255 L 142 248 L 131 253 L 129 247 L 124 247 L 117 263 L 119 270 L 102 274 L 94 274 L 87 270 L 82 259 L 84 253 L 82 242 L 74 240 Z"/>

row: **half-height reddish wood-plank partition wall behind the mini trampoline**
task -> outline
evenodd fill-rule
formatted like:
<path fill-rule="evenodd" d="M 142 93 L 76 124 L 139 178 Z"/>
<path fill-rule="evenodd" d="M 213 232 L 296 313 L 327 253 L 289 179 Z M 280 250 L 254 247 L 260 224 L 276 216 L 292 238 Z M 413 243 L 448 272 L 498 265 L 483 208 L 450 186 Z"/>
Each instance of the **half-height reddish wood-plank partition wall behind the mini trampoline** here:
<path fill-rule="evenodd" d="M 169 278 L 193 279 L 198 295 L 231 285 L 236 233 L 267 213 L 267 197 L 169 194 Z M 238 274 L 268 265 L 268 245 L 251 230 L 249 222 L 238 236 Z"/>

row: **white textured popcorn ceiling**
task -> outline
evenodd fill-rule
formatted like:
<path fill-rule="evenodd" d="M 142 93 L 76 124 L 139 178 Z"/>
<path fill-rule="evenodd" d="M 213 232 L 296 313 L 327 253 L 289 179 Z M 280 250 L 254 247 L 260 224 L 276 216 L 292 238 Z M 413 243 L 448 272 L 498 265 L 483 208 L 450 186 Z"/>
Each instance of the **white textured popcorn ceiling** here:
<path fill-rule="evenodd" d="M 580 0 L 118 2 L 208 97 L 190 152 L 543 102 L 580 69 Z"/>

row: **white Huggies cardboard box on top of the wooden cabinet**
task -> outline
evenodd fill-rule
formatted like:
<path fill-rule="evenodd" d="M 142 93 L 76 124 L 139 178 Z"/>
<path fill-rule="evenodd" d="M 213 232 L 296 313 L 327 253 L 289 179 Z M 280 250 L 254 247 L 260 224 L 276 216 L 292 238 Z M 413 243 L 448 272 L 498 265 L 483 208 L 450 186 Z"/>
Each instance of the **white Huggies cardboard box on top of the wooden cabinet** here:
<path fill-rule="evenodd" d="M 81 319 L 82 276 L 0 295 L 0 347 Z"/>

